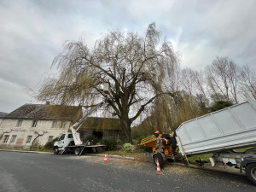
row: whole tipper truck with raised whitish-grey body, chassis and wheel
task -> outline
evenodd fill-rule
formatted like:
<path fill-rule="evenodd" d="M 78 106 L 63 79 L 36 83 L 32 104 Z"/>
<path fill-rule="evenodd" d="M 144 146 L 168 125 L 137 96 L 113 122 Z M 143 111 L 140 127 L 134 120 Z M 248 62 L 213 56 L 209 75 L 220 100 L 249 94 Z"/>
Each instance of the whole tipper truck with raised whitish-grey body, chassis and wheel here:
<path fill-rule="evenodd" d="M 181 154 L 212 153 L 212 166 L 222 162 L 240 168 L 256 184 L 256 148 L 233 151 L 256 147 L 256 101 L 249 96 L 247 102 L 184 122 L 176 134 Z"/>

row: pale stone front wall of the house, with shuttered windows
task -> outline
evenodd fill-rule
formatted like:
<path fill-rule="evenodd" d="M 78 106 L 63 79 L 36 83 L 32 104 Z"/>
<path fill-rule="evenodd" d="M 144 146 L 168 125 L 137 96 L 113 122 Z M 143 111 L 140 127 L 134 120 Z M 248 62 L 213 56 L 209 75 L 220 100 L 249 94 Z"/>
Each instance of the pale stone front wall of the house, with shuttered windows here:
<path fill-rule="evenodd" d="M 0 145 L 3 147 L 29 148 L 32 141 L 39 136 L 36 141 L 44 146 L 49 138 L 61 137 L 61 134 L 67 132 L 70 121 L 56 121 L 55 127 L 52 127 L 54 120 L 38 120 L 37 125 L 32 127 L 32 119 L 20 119 L 21 125 L 18 125 L 19 119 L 3 119 L 0 123 Z M 61 123 L 62 122 L 62 123 Z M 65 122 L 63 124 L 63 122 Z M 61 128 L 61 125 L 63 126 Z M 9 136 L 9 137 L 8 137 Z M 28 138 L 31 137 L 29 141 Z M 7 141 L 6 141 L 7 140 Z M 35 142 L 36 142 L 35 141 Z"/>

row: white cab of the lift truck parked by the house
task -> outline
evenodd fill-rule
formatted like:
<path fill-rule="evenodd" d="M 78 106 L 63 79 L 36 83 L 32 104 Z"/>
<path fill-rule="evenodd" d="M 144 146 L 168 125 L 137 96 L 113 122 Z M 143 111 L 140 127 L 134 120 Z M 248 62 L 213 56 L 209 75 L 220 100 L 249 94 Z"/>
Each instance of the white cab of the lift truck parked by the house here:
<path fill-rule="evenodd" d="M 61 137 L 54 143 L 54 153 L 59 154 L 59 151 L 64 150 L 68 145 L 73 145 L 73 134 L 71 132 L 66 132 L 61 135 Z"/>

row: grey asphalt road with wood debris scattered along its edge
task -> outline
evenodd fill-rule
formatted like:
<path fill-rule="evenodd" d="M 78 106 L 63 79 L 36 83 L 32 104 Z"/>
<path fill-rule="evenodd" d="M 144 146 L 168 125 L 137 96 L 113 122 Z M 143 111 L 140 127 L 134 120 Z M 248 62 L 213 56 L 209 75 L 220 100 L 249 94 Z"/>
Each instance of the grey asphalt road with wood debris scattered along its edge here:
<path fill-rule="evenodd" d="M 0 151 L 0 191 L 256 191 L 247 177 L 102 157 Z"/>

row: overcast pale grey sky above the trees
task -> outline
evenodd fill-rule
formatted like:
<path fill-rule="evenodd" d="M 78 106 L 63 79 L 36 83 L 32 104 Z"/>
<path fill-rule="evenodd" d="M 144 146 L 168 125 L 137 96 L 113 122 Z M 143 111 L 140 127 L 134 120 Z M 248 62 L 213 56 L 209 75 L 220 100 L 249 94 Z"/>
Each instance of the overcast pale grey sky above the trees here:
<path fill-rule="evenodd" d="M 48 73 L 67 40 L 92 46 L 108 30 L 143 34 L 156 23 L 182 54 L 182 67 L 204 69 L 216 56 L 256 65 L 254 0 L 1 0 L 0 112 L 37 103 L 26 92 Z"/>

